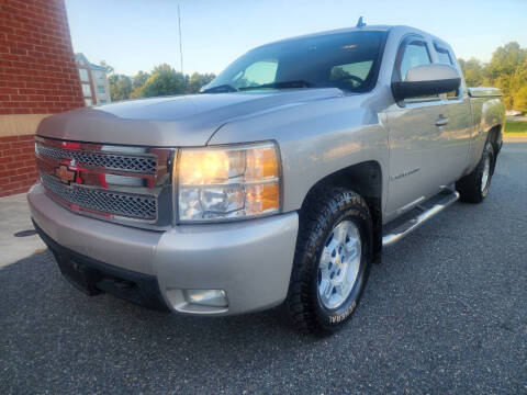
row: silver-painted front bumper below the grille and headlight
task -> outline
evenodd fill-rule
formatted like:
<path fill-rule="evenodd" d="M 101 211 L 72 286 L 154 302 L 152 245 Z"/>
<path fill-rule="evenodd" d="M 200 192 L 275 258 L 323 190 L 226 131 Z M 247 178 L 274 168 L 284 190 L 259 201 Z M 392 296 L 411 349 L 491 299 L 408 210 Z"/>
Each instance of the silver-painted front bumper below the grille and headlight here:
<path fill-rule="evenodd" d="M 41 184 L 31 189 L 27 201 L 38 230 L 53 241 L 47 240 L 52 250 L 60 247 L 88 266 L 94 261 L 103 269 L 154 279 L 161 300 L 175 312 L 240 314 L 276 306 L 287 296 L 296 213 L 153 232 L 71 213 L 52 201 Z M 148 290 L 155 290 L 152 281 Z M 184 303 L 183 290 L 223 290 L 228 307 Z"/>

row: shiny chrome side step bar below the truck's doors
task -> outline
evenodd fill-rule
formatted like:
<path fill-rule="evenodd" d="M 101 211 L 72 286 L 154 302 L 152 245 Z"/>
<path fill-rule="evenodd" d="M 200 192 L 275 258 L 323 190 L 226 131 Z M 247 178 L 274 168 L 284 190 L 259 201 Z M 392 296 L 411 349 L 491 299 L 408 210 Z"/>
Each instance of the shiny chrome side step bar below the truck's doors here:
<path fill-rule="evenodd" d="M 411 234 L 425 222 L 436 216 L 449 205 L 455 203 L 458 199 L 459 193 L 457 191 L 449 190 L 448 194 L 445 198 L 441 198 L 440 200 L 435 202 L 430 207 L 424 207 L 423 205 L 417 206 L 416 208 L 418 208 L 421 213 L 410 218 L 407 222 L 399 225 L 397 227 L 390 229 L 386 235 L 383 235 L 382 246 L 386 247 L 397 242 L 404 236 Z"/>

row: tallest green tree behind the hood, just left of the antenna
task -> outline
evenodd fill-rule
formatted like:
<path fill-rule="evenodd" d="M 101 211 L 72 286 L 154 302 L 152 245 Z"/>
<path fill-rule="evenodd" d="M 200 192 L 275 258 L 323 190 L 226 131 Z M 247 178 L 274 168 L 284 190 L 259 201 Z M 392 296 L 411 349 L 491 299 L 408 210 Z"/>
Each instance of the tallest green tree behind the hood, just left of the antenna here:
<path fill-rule="evenodd" d="M 188 77 L 176 71 L 167 64 L 156 66 L 152 75 L 141 88 L 141 97 L 158 97 L 167 94 L 180 94 L 187 90 Z"/>

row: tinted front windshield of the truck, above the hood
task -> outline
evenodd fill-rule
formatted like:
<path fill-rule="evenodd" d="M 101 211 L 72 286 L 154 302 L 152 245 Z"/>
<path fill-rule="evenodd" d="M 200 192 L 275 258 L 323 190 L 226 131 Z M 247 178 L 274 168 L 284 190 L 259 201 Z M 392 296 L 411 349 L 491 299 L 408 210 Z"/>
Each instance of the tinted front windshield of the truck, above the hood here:
<path fill-rule="evenodd" d="M 289 40 L 249 50 L 203 92 L 334 87 L 371 90 L 379 72 L 385 32 L 333 33 Z"/>

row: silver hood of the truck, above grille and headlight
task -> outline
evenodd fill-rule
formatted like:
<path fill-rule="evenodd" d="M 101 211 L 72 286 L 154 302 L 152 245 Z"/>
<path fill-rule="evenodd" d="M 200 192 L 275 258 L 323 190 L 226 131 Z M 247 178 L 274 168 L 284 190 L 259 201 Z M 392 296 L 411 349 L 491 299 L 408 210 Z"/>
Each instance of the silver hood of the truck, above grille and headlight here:
<path fill-rule="evenodd" d="M 88 143 L 203 146 L 236 119 L 341 94 L 339 89 L 324 88 L 134 100 L 49 116 L 36 134 Z"/>

